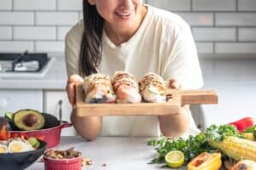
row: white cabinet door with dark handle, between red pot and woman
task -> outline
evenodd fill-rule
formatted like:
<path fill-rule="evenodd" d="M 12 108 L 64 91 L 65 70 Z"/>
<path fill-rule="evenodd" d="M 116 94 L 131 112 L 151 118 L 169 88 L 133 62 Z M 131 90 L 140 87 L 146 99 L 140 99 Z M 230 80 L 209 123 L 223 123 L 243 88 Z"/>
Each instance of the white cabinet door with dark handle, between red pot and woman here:
<path fill-rule="evenodd" d="M 62 121 L 70 122 L 72 107 L 67 99 L 66 91 L 44 91 L 44 112 L 52 114 L 59 118 L 61 102 Z M 62 128 L 61 136 L 75 136 L 73 127 Z"/>

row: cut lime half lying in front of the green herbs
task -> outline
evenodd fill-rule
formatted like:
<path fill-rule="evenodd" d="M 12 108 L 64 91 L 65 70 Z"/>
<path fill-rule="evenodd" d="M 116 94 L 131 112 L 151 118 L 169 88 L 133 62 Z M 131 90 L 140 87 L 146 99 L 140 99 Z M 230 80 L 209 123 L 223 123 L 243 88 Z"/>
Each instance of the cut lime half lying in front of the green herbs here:
<path fill-rule="evenodd" d="M 184 154 L 180 150 L 171 150 L 166 154 L 166 163 L 168 167 L 181 167 L 184 163 Z"/>

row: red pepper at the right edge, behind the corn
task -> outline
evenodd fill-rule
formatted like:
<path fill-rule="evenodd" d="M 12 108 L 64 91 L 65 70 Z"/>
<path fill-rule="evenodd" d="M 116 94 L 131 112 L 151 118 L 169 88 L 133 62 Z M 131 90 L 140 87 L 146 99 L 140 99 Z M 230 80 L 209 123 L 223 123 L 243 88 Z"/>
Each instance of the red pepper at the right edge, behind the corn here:
<path fill-rule="evenodd" d="M 234 125 L 239 132 L 243 132 L 247 127 L 251 127 L 256 123 L 253 117 L 244 117 L 236 122 L 230 122 L 230 125 Z"/>

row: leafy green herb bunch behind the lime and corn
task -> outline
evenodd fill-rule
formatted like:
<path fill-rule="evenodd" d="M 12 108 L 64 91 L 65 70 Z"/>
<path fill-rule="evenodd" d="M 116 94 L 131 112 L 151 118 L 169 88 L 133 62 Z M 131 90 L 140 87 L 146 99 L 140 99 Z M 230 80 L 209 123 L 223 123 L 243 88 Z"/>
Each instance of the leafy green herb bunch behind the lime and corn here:
<path fill-rule="evenodd" d="M 156 139 L 150 139 L 148 145 L 157 146 L 155 150 L 158 156 L 151 163 L 164 163 L 166 154 L 171 150 L 180 150 L 185 156 L 185 162 L 188 163 L 195 156 L 198 156 L 203 151 L 214 152 L 217 149 L 208 144 L 209 140 L 222 141 L 227 136 L 236 136 L 239 138 L 241 134 L 236 127 L 231 125 L 212 125 L 207 127 L 206 133 L 198 133 L 195 136 L 190 135 L 188 139 L 170 139 L 164 136 Z M 218 150 L 219 151 L 219 150 Z M 224 154 L 223 154 L 224 156 Z"/>

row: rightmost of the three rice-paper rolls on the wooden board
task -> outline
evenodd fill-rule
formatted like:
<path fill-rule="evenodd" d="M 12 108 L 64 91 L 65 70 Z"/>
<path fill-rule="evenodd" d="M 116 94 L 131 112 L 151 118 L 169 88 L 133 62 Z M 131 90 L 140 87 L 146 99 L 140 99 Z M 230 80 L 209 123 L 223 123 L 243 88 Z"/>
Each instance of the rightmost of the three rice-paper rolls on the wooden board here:
<path fill-rule="evenodd" d="M 148 72 L 140 84 L 140 93 L 147 102 L 160 103 L 166 101 L 165 81 L 159 75 Z"/>

